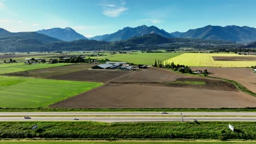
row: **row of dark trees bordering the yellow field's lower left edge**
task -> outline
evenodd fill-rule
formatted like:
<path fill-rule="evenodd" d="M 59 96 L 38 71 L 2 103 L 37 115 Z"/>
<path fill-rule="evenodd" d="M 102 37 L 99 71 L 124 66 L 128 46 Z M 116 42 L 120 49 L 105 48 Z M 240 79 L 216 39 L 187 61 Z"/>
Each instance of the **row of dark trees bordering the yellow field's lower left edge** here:
<path fill-rule="evenodd" d="M 172 63 L 164 63 L 162 61 L 156 61 L 155 60 L 155 64 L 153 65 L 154 67 L 159 67 L 159 68 L 167 68 L 167 69 L 172 69 L 174 71 L 179 71 L 181 73 L 193 73 L 193 71 L 188 67 L 188 66 L 185 66 L 185 65 L 179 65 L 179 64 L 174 64 L 174 62 Z"/>

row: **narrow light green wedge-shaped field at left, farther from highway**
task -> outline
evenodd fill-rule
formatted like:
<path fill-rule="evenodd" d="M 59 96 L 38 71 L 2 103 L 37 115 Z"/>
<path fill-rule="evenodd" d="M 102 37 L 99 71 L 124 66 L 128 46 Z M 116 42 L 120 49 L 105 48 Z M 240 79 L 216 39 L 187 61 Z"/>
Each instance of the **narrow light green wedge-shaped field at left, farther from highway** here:
<path fill-rule="evenodd" d="M 59 67 L 62 65 L 69 65 L 71 63 L 40 63 L 40 64 L 24 64 L 24 63 L 10 63 L 10 64 L 0 64 L 0 74 L 14 73 L 18 71 L 27 71 L 33 69 L 43 69 L 50 67 Z"/>

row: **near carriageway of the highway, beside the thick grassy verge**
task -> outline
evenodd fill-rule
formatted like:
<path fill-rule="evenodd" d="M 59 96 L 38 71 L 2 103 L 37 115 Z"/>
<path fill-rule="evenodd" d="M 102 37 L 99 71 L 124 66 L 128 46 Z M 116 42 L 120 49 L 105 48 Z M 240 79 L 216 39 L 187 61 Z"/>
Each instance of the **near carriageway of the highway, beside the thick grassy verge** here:
<path fill-rule="evenodd" d="M 119 116 L 97 116 L 97 117 L 77 117 L 78 121 L 95 121 L 95 122 L 167 122 L 182 121 L 181 117 L 119 117 Z M 256 121 L 256 117 L 183 117 L 184 121 Z M 0 117 L 0 121 L 75 121 L 73 117 Z"/>

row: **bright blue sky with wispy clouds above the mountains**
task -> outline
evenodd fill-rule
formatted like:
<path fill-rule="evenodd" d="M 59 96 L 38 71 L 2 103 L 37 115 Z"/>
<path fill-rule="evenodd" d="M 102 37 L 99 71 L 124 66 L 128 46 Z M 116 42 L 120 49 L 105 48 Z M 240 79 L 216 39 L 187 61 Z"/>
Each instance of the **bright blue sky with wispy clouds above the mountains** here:
<path fill-rule="evenodd" d="M 72 27 L 85 36 L 140 25 L 167 32 L 256 27 L 255 6 L 254 0 L 0 0 L 0 27 L 10 32 Z"/>

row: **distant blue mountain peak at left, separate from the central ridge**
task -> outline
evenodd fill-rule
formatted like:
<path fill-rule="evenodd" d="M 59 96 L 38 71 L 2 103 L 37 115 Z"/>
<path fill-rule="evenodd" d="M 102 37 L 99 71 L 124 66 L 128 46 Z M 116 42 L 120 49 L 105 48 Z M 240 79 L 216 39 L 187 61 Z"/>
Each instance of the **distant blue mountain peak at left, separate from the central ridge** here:
<path fill-rule="evenodd" d="M 45 34 L 49 37 L 57 38 L 63 41 L 87 39 L 86 37 L 84 37 L 84 35 L 75 32 L 74 29 L 70 27 L 42 29 L 40 31 L 37 31 L 37 33 Z"/>

